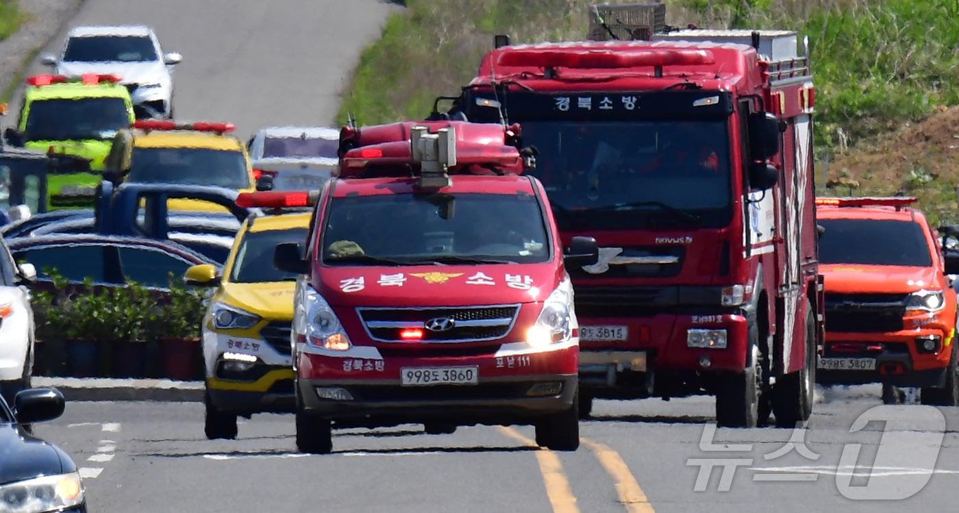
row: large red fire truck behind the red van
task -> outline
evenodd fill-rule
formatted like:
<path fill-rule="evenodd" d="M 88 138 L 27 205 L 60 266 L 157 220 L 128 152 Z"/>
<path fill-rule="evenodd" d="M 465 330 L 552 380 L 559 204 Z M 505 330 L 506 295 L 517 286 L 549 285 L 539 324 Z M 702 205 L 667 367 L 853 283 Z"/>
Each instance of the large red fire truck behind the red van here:
<path fill-rule="evenodd" d="M 808 52 L 784 31 L 497 48 L 430 119 L 519 124 L 572 272 L 580 412 L 711 393 L 721 426 L 794 426 L 823 339 Z M 807 45 L 806 45 L 807 46 Z M 437 99 L 437 105 L 441 99 Z"/>

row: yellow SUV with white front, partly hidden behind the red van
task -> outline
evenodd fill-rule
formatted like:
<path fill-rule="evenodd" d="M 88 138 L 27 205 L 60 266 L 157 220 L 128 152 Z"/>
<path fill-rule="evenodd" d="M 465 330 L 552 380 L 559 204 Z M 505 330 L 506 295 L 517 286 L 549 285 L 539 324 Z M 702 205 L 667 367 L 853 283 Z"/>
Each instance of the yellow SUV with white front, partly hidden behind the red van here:
<path fill-rule="evenodd" d="M 235 438 L 238 416 L 295 407 L 290 328 L 296 275 L 272 262 L 276 245 L 306 241 L 311 215 L 252 214 L 241 225 L 222 274 L 201 265 L 183 276 L 188 285 L 217 287 L 202 321 L 210 439 Z"/>

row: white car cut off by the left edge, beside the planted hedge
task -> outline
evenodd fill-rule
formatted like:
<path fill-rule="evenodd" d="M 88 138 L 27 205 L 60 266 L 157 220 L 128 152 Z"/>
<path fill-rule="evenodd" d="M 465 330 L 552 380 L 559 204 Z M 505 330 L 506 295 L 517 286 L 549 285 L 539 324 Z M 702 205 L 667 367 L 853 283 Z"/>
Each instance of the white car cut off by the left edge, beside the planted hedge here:
<path fill-rule="evenodd" d="M 30 388 L 34 367 L 34 311 L 24 286 L 36 278 L 31 264 L 13 261 L 0 238 L 0 393 L 13 404 L 17 392 Z"/>

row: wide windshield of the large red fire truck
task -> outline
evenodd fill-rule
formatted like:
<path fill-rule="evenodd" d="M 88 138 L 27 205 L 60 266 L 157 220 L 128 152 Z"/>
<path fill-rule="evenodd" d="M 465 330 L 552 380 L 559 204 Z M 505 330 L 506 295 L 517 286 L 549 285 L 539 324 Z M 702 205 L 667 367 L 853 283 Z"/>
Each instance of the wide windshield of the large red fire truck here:
<path fill-rule="evenodd" d="M 729 222 L 724 120 L 522 123 L 561 228 Z"/>

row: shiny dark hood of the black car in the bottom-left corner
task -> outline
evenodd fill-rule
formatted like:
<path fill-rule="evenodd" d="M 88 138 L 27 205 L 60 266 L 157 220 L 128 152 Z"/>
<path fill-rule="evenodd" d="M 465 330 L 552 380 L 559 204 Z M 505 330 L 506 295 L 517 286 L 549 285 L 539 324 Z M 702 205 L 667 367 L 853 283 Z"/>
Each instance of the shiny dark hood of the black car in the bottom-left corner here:
<path fill-rule="evenodd" d="M 0 423 L 0 484 L 76 470 L 73 460 L 57 446 L 15 424 Z"/>

